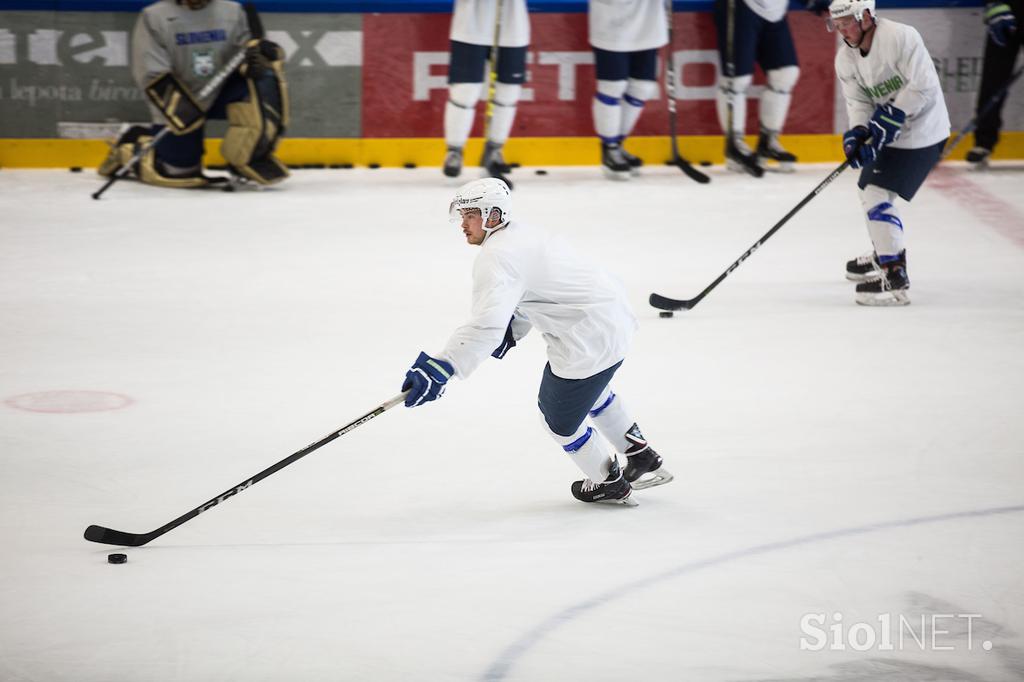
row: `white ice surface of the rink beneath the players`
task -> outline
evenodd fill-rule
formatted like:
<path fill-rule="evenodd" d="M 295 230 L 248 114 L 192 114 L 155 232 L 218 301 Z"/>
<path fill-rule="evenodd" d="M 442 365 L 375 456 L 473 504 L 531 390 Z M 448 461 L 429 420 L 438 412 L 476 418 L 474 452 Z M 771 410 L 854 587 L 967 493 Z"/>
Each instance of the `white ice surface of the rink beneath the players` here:
<path fill-rule="evenodd" d="M 676 480 L 575 502 L 542 340 L 110 565 L 146 531 L 398 392 L 468 309 L 437 169 L 260 193 L 0 171 L 0 680 L 1020 680 L 1024 170 L 901 205 L 912 305 L 853 303 L 854 174 L 696 308 L 822 179 L 515 172 L 519 217 L 618 272 L 616 376 Z M 3 403 L 109 391 L 104 412 Z M 965 512 L 977 512 L 965 514 Z M 801 650 L 801 617 L 938 619 L 934 645 Z M 834 621 L 829 620 L 827 625 Z M 863 640 L 862 640 L 863 641 Z M 984 650 L 982 641 L 991 643 Z"/>

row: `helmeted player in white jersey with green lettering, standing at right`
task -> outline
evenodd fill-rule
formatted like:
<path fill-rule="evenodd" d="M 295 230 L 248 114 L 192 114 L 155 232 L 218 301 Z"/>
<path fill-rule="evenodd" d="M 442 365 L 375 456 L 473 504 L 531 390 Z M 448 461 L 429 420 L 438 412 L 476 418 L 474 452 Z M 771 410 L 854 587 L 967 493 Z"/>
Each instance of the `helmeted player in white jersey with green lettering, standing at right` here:
<path fill-rule="evenodd" d="M 850 129 L 843 151 L 860 168 L 860 203 L 873 251 L 847 263 L 861 305 L 906 305 L 903 220 L 895 202 L 913 199 L 942 156 L 949 115 L 928 49 L 912 27 L 878 18 L 874 0 L 834 0 L 828 28 L 843 36 L 836 74 Z"/>

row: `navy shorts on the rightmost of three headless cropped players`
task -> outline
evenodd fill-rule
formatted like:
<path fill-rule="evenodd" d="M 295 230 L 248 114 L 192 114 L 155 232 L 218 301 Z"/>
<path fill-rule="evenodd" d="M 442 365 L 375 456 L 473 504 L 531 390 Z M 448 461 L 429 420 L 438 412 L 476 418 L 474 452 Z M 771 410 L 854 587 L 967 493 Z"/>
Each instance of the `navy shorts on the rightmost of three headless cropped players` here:
<path fill-rule="evenodd" d="M 733 76 L 753 74 L 755 60 L 764 71 L 799 66 L 797 48 L 793 45 L 790 24 L 784 16 L 780 22 L 766 22 L 748 7 L 743 0 L 732 0 L 732 2 L 735 12 L 732 29 Z M 722 74 L 726 75 L 725 65 L 729 61 L 729 55 L 726 54 L 728 46 L 726 0 L 715 0 L 714 9 L 715 30 L 718 32 L 718 54 Z"/>

